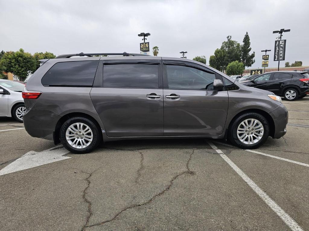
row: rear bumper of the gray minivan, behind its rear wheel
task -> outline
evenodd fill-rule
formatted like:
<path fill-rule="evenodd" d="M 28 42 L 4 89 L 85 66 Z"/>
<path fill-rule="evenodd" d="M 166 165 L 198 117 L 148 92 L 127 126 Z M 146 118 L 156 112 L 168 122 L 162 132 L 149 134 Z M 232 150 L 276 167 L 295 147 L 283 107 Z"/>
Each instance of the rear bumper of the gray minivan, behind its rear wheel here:
<path fill-rule="evenodd" d="M 48 110 L 29 110 L 23 115 L 23 123 L 30 136 L 53 140 L 60 115 Z"/>

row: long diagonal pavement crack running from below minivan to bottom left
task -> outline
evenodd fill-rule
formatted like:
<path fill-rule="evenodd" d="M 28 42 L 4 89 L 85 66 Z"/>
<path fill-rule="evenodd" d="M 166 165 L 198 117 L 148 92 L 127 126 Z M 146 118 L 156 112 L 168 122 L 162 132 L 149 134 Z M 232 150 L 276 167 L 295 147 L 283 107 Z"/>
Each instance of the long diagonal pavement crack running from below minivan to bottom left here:
<path fill-rule="evenodd" d="M 181 173 L 177 174 L 176 176 L 174 176 L 174 177 L 170 180 L 170 184 L 169 184 L 163 191 L 161 191 L 160 193 L 154 195 L 153 197 L 150 198 L 150 200 L 148 200 L 148 201 L 146 201 L 146 202 L 144 202 L 144 203 L 142 203 L 142 204 L 133 204 L 133 205 L 130 205 L 130 206 L 125 207 L 125 208 L 122 209 L 120 212 L 116 213 L 116 215 L 115 215 L 112 219 L 109 219 L 109 220 L 107 220 L 107 221 L 102 221 L 102 222 L 96 223 L 96 224 L 94 224 L 94 225 L 89 225 L 89 226 L 86 225 L 86 226 L 84 226 L 84 228 L 86 228 L 86 227 L 87 227 L 87 228 L 90 228 L 90 227 L 93 227 L 93 226 L 103 225 L 103 224 L 105 224 L 105 223 L 107 223 L 107 222 L 110 222 L 110 221 L 115 220 L 121 213 L 125 212 L 125 211 L 128 210 L 128 209 L 133 209 L 133 208 L 136 208 L 136 207 L 140 207 L 140 206 L 143 206 L 143 205 L 147 205 L 147 204 L 151 203 L 153 200 L 155 200 L 156 197 L 159 197 L 159 196 L 161 196 L 162 194 L 164 194 L 165 192 L 167 192 L 167 191 L 171 188 L 171 186 L 173 185 L 174 180 L 176 180 L 179 176 L 184 175 L 184 174 L 189 174 L 189 175 L 191 175 L 191 176 L 194 175 L 195 173 L 194 173 L 193 171 L 191 171 L 190 168 L 189 168 L 189 162 L 191 161 L 192 155 L 194 154 L 194 150 L 195 150 L 195 149 L 193 149 L 193 152 L 190 154 L 190 157 L 189 157 L 189 159 L 188 159 L 188 161 L 187 161 L 187 163 L 186 163 L 186 168 L 187 168 L 187 170 L 184 171 L 184 172 L 181 172 Z"/>

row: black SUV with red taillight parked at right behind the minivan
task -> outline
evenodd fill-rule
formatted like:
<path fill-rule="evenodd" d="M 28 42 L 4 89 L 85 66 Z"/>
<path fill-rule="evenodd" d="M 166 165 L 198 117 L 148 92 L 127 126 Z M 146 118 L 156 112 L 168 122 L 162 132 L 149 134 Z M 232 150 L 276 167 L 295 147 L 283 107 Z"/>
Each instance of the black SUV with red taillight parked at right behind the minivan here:
<path fill-rule="evenodd" d="M 283 96 L 286 100 L 300 99 L 309 94 L 309 73 L 305 71 L 272 71 L 241 82 Z"/>

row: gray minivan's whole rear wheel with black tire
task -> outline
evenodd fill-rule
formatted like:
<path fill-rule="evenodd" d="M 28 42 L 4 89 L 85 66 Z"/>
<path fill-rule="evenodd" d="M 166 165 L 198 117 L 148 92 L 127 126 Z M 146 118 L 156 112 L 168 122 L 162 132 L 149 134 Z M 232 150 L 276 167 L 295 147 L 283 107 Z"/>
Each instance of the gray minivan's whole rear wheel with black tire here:
<path fill-rule="evenodd" d="M 84 117 L 73 117 L 62 124 L 60 141 L 70 152 L 82 154 L 94 150 L 99 145 L 101 136 L 99 129 L 92 120 Z"/>

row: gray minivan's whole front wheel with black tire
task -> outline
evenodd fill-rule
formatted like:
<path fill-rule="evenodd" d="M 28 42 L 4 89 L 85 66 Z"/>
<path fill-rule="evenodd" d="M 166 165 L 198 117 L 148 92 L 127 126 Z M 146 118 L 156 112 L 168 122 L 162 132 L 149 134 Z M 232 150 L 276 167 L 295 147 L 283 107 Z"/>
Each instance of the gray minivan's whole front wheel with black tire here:
<path fill-rule="evenodd" d="M 252 125 L 251 122 L 255 124 L 253 128 L 250 127 L 250 125 Z M 239 133 L 237 133 L 237 131 L 239 131 Z M 241 133 L 242 131 L 243 133 Z M 266 118 L 259 113 L 248 112 L 239 115 L 232 121 L 231 129 L 229 131 L 229 140 L 239 148 L 254 149 L 264 144 L 268 135 L 269 123 Z"/>

